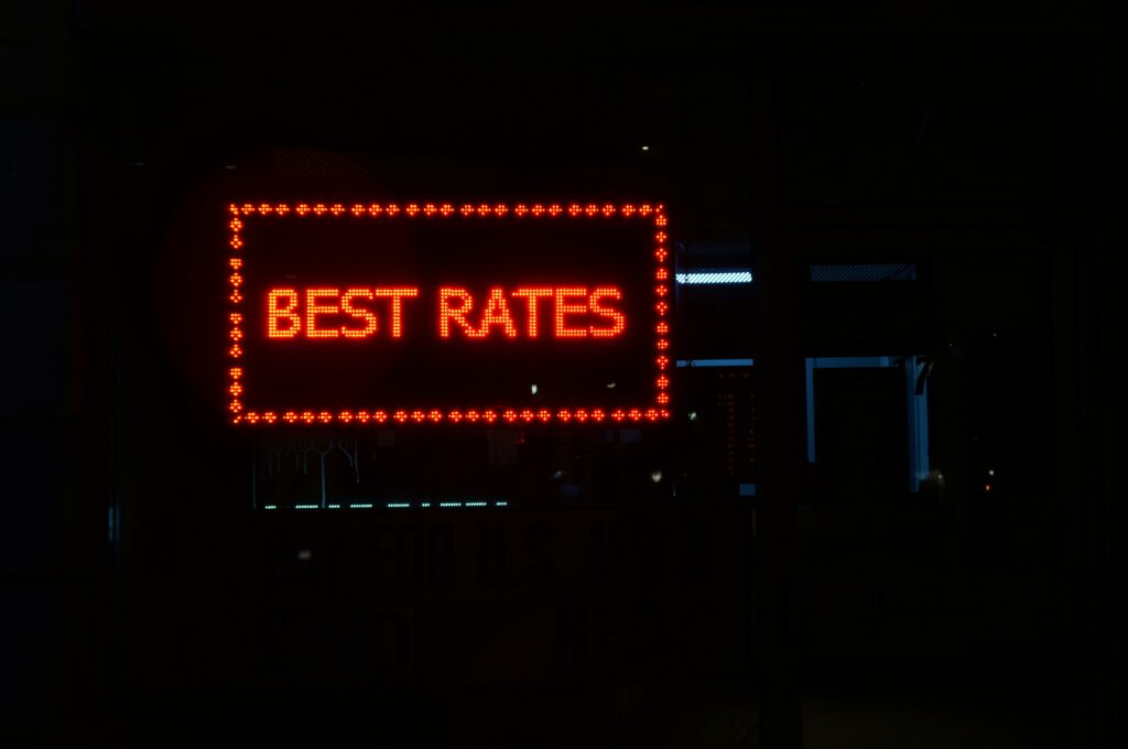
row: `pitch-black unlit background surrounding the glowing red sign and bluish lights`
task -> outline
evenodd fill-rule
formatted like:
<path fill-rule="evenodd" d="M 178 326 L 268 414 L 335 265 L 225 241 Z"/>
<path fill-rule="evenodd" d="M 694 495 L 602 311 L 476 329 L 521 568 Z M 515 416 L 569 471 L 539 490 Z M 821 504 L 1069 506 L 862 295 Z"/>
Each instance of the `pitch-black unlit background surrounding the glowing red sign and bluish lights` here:
<path fill-rule="evenodd" d="M 256 5 L 0 11 L 6 746 L 1123 741 L 1122 8 Z M 675 356 L 755 376 L 637 434 L 372 435 L 388 496 L 506 510 L 253 511 L 191 310 L 226 253 L 171 248 L 263 179 L 659 197 L 757 279 L 679 290 Z M 803 285 L 871 258 L 927 281 Z M 803 359 L 893 354 L 943 485 L 844 500 Z"/>

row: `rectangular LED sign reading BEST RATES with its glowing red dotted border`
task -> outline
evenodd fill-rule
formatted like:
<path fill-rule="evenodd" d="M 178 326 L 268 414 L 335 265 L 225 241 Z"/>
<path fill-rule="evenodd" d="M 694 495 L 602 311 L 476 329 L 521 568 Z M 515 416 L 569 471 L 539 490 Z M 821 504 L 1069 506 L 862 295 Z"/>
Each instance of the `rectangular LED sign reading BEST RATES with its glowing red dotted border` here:
<path fill-rule="evenodd" d="M 232 423 L 669 418 L 658 203 L 228 206 Z"/>

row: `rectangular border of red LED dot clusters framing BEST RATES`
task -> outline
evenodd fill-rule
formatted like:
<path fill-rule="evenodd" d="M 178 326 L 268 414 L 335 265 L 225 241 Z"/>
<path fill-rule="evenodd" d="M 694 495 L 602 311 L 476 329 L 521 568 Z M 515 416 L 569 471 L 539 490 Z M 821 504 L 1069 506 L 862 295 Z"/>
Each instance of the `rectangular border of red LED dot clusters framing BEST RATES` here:
<path fill-rule="evenodd" d="M 243 229 L 245 219 L 259 217 L 296 217 L 303 219 L 391 219 L 391 220 L 483 220 L 512 217 L 529 220 L 597 220 L 623 218 L 652 221 L 654 228 L 654 403 L 618 408 L 324 408 L 247 411 L 241 341 L 244 314 L 241 287 L 244 280 Z M 670 417 L 670 270 L 669 218 L 662 203 L 231 203 L 228 205 L 228 388 L 229 418 L 232 424 L 248 425 L 326 425 L 326 424 L 548 424 L 557 423 L 655 423 Z"/>

